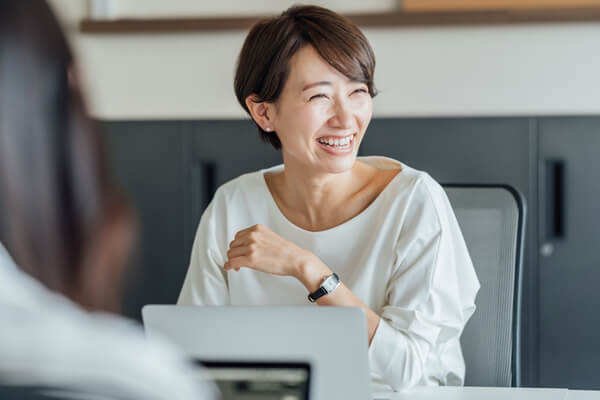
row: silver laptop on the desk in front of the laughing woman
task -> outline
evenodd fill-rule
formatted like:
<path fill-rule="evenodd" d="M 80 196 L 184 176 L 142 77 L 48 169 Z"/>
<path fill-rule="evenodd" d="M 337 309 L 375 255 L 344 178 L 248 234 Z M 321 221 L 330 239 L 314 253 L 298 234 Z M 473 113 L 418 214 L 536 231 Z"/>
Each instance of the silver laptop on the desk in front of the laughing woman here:
<path fill-rule="evenodd" d="M 149 338 L 166 337 L 178 344 L 205 363 L 209 375 L 221 380 L 219 386 L 222 377 L 260 374 L 264 369 L 252 367 L 270 365 L 280 376 L 296 377 L 299 391 L 290 399 L 303 399 L 302 376 L 310 400 L 372 398 L 362 309 L 148 305 L 142 317 Z"/>

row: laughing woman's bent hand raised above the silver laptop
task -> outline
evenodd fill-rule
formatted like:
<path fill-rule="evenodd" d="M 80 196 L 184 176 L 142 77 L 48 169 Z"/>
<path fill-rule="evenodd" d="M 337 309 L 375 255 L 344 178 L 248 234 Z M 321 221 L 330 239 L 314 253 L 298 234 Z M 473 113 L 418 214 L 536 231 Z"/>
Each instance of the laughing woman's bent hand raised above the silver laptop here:
<path fill-rule="evenodd" d="M 225 270 L 241 267 L 273 275 L 297 277 L 301 268 L 312 256 L 296 244 L 272 232 L 263 225 L 254 225 L 236 233 L 229 243 Z"/>

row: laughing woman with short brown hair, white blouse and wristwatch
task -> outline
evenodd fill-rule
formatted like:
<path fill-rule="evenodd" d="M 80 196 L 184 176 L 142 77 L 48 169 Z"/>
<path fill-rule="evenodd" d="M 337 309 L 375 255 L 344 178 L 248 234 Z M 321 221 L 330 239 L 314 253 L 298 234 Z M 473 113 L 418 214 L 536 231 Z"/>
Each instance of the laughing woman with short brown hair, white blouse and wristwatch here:
<path fill-rule="evenodd" d="M 292 7 L 252 28 L 235 91 L 283 166 L 219 188 L 179 303 L 361 307 L 376 390 L 460 385 L 479 283 L 440 185 L 389 158 L 357 159 L 374 69 L 364 35 L 327 9 Z"/>

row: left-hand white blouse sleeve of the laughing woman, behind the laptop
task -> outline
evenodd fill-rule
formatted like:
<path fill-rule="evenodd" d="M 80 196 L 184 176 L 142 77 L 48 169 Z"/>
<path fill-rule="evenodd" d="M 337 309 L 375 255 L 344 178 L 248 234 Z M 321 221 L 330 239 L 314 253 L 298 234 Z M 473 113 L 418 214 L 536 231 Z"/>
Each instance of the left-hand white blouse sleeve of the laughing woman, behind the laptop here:
<path fill-rule="evenodd" d="M 216 224 L 220 207 L 220 193 L 206 208 L 196 231 L 188 268 L 177 304 L 179 305 L 227 305 L 229 288 L 223 252 L 217 245 Z"/>

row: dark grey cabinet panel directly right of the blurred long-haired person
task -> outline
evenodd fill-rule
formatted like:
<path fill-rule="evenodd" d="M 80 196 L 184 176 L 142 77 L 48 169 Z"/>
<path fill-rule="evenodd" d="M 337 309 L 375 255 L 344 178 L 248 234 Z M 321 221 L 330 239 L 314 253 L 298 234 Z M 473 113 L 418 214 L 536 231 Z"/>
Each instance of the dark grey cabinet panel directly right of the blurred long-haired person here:
<path fill-rule="evenodd" d="M 123 311 L 140 318 L 149 303 L 174 303 L 187 269 L 183 241 L 181 123 L 103 123 L 111 169 L 136 209 L 138 247 Z"/>

